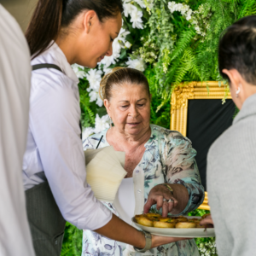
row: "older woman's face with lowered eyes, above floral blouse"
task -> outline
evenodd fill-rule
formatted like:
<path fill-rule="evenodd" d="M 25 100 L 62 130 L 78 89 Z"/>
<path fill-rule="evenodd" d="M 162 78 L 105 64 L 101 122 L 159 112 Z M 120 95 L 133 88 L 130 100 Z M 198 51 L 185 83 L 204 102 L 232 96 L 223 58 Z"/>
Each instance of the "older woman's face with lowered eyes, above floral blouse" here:
<path fill-rule="evenodd" d="M 119 132 L 135 136 L 148 131 L 150 97 L 143 85 L 113 86 L 112 98 L 105 99 L 104 105 Z"/>

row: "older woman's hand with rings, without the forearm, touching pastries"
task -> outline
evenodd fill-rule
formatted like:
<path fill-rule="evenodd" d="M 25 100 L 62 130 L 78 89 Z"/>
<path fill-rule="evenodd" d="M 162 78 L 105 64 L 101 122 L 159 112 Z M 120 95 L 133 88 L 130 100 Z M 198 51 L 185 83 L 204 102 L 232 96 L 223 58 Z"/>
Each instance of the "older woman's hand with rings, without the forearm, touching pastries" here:
<path fill-rule="evenodd" d="M 164 199 L 167 201 L 172 199 L 173 201 L 168 203 L 167 201 L 164 201 Z M 148 201 L 144 206 L 144 213 L 148 213 L 149 209 L 155 204 L 157 210 L 162 208 L 162 216 L 167 217 L 168 212 L 172 212 L 172 209 L 177 207 L 178 201 L 166 186 L 160 184 L 154 186 L 154 188 L 150 190 Z"/>

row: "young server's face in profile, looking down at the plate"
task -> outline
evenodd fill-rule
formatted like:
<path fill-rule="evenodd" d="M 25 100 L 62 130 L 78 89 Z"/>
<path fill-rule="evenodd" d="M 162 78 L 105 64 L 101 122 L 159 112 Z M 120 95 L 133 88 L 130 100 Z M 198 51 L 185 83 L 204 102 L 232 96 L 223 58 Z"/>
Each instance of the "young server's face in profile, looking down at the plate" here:
<path fill-rule="evenodd" d="M 90 13 L 89 13 L 90 15 Z M 79 64 L 84 67 L 96 67 L 104 56 L 113 54 L 113 39 L 117 38 L 122 26 L 122 16 L 108 18 L 101 22 L 96 15 L 84 18 L 84 37 L 79 48 Z"/>

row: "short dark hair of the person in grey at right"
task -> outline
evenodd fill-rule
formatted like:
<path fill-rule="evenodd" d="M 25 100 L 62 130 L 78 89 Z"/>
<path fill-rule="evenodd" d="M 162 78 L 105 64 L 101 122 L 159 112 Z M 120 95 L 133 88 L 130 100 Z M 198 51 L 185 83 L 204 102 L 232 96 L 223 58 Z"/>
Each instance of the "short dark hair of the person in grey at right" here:
<path fill-rule="evenodd" d="M 236 69 L 243 79 L 256 84 L 256 15 L 247 16 L 228 27 L 218 44 L 218 69 Z"/>

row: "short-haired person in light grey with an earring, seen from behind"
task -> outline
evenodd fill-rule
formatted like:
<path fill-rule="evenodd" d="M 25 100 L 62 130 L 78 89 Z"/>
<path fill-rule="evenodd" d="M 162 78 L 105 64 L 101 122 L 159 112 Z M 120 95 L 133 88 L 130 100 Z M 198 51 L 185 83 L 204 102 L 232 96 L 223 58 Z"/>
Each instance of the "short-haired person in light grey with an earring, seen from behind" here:
<path fill-rule="evenodd" d="M 242 18 L 226 30 L 219 41 L 218 67 L 241 110 L 207 156 L 218 255 L 255 255 L 256 16 Z M 209 216 L 201 224 L 212 219 Z"/>

